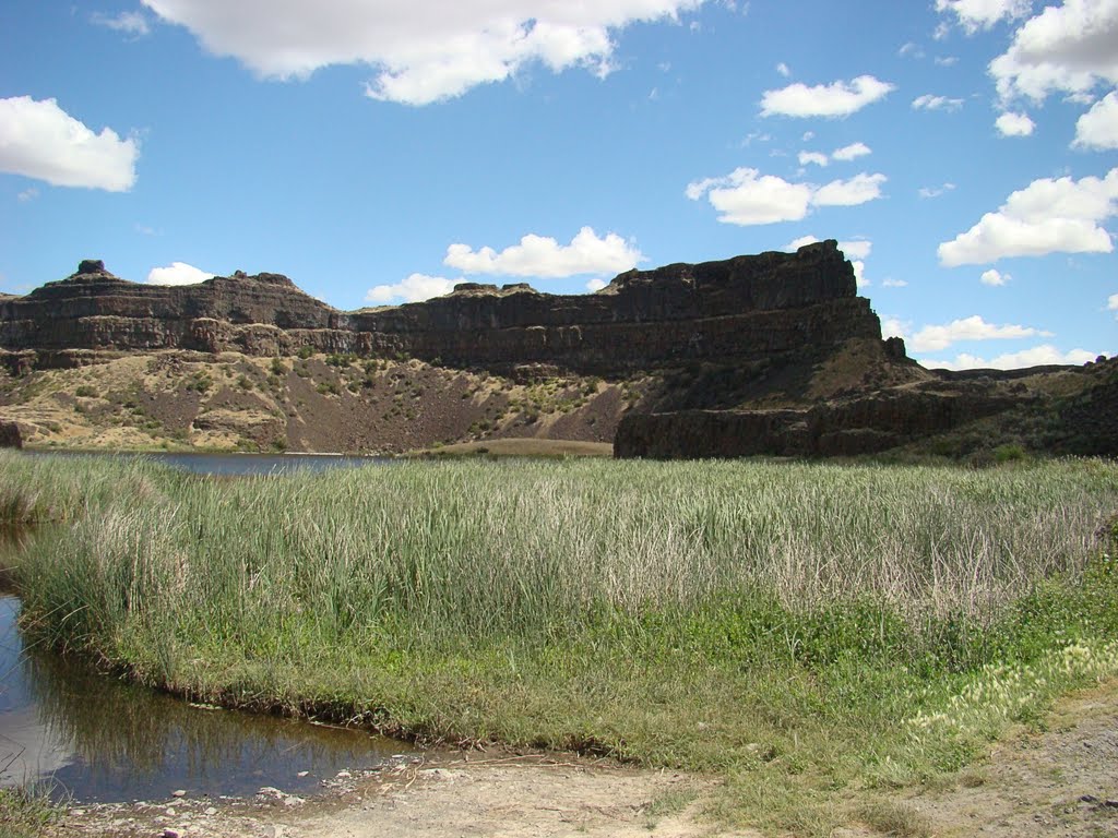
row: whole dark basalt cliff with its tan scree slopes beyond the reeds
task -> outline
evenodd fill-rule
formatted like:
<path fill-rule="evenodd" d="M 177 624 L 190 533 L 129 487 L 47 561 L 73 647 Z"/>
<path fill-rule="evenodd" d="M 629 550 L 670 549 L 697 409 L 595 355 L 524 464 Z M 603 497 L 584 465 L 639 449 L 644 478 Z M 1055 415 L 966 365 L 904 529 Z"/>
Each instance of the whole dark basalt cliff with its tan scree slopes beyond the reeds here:
<path fill-rule="evenodd" d="M 463 284 L 353 312 L 278 274 L 153 286 L 86 260 L 0 295 L 0 440 L 400 451 L 531 438 L 695 457 L 934 439 L 966 454 L 1001 438 L 987 427 L 972 445 L 966 428 L 1007 421 L 1012 439 L 1106 453 L 1115 364 L 1093 366 L 923 370 L 881 340 L 834 241 L 631 270 L 595 294 Z"/>

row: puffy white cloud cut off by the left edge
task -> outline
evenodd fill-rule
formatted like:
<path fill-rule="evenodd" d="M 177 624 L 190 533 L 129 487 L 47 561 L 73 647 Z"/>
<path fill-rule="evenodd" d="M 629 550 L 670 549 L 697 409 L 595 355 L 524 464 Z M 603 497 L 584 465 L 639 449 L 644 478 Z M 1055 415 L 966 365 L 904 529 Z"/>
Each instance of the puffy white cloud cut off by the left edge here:
<path fill-rule="evenodd" d="M 0 171 L 56 187 L 126 192 L 135 183 L 140 149 L 112 128 L 94 134 L 55 99 L 0 99 Z"/>

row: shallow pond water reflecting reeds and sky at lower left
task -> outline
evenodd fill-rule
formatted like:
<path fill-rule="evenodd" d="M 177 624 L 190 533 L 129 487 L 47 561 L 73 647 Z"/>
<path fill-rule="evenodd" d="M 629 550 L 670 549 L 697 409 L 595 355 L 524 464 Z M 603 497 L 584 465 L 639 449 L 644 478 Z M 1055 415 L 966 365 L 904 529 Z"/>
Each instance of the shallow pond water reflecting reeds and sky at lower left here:
<path fill-rule="evenodd" d="M 359 731 L 200 708 L 97 675 L 26 648 L 18 613 L 18 598 L 0 596 L 0 784 L 53 780 L 59 792 L 96 801 L 177 789 L 240 796 L 262 785 L 307 793 L 342 769 L 399 752 L 398 742 Z"/>

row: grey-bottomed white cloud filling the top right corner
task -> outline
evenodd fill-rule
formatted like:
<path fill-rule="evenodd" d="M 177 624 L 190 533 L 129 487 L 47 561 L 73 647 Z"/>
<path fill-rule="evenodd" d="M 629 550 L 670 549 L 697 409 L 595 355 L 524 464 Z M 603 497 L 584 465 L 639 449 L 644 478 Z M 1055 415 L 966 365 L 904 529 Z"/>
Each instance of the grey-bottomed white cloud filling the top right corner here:
<path fill-rule="evenodd" d="M 1025 21 L 989 73 L 1003 101 L 1082 94 L 1100 80 L 1118 84 L 1116 41 L 1118 0 L 1064 0 Z"/>

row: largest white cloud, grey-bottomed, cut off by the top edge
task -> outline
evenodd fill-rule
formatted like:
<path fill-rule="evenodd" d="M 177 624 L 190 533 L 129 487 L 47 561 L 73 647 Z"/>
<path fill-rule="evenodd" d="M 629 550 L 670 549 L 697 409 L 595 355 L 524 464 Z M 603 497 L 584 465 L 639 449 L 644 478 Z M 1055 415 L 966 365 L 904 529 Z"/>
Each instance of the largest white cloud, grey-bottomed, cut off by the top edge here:
<path fill-rule="evenodd" d="M 503 82 L 531 63 L 552 72 L 612 69 L 612 35 L 676 19 L 703 0 L 142 0 L 210 53 L 265 78 L 306 78 L 331 65 L 371 65 L 367 93 L 424 105 Z"/>

